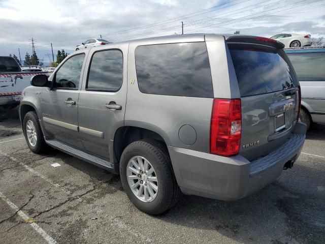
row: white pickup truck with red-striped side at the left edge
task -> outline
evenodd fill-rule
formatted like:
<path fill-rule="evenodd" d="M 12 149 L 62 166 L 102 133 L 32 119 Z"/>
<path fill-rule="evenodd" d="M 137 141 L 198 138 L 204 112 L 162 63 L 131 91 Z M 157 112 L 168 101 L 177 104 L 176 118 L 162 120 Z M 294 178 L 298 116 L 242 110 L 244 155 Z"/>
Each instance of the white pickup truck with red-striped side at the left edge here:
<path fill-rule="evenodd" d="M 42 71 L 23 71 L 16 60 L 9 56 L 0 56 L 0 106 L 13 108 L 20 102 L 22 90 L 30 85 L 30 78 Z"/>

